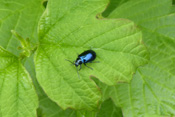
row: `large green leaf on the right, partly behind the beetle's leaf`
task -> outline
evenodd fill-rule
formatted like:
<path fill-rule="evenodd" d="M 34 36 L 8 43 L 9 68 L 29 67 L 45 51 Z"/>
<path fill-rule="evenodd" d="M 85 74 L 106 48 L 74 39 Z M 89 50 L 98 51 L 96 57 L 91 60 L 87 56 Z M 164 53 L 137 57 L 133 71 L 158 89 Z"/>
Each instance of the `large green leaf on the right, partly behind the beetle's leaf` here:
<path fill-rule="evenodd" d="M 124 116 L 175 115 L 175 13 L 171 11 L 171 2 L 129 1 L 109 15 L 135 21 L 143 31 L 151 57 L 130 84 L 103 89 L 104 99 L 111 96 L 122 107 Z"/>

